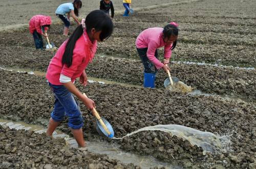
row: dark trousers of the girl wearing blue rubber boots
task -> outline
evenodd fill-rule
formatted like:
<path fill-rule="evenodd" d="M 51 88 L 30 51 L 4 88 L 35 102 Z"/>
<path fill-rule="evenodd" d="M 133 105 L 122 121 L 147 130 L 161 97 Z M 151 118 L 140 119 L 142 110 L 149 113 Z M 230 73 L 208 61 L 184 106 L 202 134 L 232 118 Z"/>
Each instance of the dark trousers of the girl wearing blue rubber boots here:
<path fill-rule="evenodd" d="M 142 64 L 144 65 L 144 72 L 145 73 L 157 73 L 158 69 L 151 62 L 151 60 L 149 60 L 146 56 L 147 47 L 146 48 L 137 48 L 137 51 L 139 53 L 140 60 L 141 60 Z M 158 59 L 157 49 L 155 51 L 155 57 L 156 57 L 156 59 Z"/>

